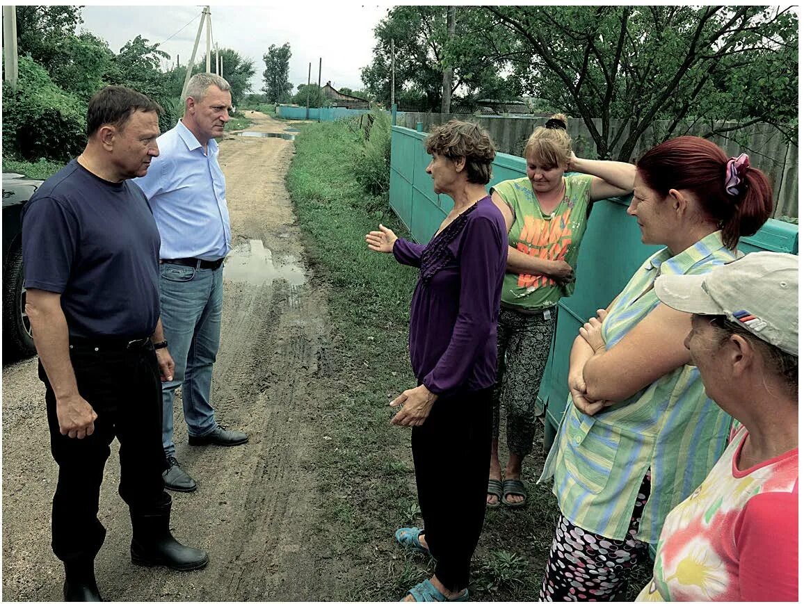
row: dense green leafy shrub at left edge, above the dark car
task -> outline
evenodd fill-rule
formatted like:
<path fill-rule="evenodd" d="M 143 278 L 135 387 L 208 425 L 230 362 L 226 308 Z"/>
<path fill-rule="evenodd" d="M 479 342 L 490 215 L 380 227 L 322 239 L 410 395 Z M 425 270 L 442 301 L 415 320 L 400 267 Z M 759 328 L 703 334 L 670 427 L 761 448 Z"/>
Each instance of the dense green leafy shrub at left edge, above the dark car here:
<path fill-rule="evenodd" d="M 6 155 L 68 161 L 84 149 L 84 103 L 56 86 L 44 67 L 30 57 L 19 58 L 17 85 L 3 86 L 2 102 Z"/>

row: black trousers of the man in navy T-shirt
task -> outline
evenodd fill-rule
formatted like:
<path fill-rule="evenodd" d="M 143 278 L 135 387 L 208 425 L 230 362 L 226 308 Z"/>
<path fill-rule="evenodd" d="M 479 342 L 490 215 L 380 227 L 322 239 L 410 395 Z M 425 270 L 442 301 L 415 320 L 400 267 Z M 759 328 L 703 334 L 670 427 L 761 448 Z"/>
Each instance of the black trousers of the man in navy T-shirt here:
<path fill-rule="evenodd" d="M 106 535 L 98 520 L 100 483 L 109 444 L 120 442 L 118 491 L 135 513 L 170 502 L 162 471 L 162 382 L 150 344 L 139 349 L 78 346 L 70 350 L 79 394 L 97 414 L 95 431 L 84 439 L 59 432 L 55 394 L 41 362 L 39 378 L 47 388 L 47 424 L 59 482 L 53 497 L 53 552 L 62 561 L 95 557 Z"/>

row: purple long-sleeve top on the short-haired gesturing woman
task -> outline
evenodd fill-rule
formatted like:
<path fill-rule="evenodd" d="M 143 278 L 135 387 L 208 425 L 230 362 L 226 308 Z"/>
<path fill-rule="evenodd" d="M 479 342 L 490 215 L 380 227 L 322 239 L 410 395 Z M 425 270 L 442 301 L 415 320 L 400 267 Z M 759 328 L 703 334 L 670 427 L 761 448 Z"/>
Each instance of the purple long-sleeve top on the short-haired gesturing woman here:
<path fill-rule="evenodd" d="M 393 253 L 420 268 L 408 339 L 419 382 L 436 394 L 494 385 L 508 243 L 503 214 L 491 198 L 464 211 L 426 246 L 396 239 Z"/>

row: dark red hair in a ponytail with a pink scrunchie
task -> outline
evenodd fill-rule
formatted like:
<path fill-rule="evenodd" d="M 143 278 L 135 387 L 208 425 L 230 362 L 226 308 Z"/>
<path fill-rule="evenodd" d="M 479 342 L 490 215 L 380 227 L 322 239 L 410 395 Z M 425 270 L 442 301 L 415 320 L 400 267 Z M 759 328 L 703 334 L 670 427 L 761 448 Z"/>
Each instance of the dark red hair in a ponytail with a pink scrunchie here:
<path fill-rule="evenodd" d="M 773 213 L 773 191 L 761 170 L 749 168 L 740 194 L 726 192 L 728 157 L 712 141 L 678 137 L 656 145 L 637 161 L 646 186 L 666 197 L 671 189 L 689 190 L 702 210 L 723 230 L 723 243 L 737 247 L 740 237 L 759 231 Z"/>

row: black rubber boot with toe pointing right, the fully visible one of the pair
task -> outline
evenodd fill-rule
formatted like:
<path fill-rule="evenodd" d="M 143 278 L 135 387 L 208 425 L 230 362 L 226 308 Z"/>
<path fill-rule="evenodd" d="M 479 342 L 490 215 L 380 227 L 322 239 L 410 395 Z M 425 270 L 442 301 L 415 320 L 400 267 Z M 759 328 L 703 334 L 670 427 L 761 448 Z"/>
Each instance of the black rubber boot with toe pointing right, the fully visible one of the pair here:
<path fill-rule="evenodd" d="M 167 566 L 174 570 L 203 569 L 207 553 L 182 545 L 170 534 L 170 503 L 148 513 L 131 511 L 131 561 L 141 566 Z"/>

